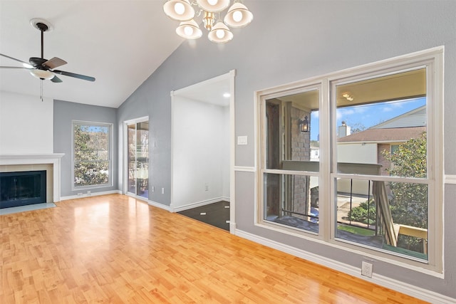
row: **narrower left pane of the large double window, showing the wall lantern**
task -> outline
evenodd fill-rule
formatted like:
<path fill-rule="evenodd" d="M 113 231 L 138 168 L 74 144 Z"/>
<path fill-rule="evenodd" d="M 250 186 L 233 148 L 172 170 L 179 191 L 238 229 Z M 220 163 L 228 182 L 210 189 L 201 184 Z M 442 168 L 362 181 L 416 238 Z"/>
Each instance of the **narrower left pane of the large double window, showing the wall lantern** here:
<path fill-rule="evenodd" d="M 264 214 L 262 221 L 318 234 L 319 85 L 266 98 L 264 116 Z"/>

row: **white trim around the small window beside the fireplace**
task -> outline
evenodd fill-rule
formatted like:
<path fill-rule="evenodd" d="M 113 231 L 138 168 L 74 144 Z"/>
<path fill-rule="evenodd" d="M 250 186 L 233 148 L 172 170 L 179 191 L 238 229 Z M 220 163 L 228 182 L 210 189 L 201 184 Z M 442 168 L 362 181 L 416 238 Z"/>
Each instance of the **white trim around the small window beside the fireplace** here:
<path fill-rule="evenodd" d="M 75 187 L 75 185 L 74 185 L 74 164 L 75 164 L 75 161 L 74 161 L 74 126 L 75 125 L 94 125 L 94 126 L 109 127 L 108 184 L 97 184 L 97 185 L 90 185 L 90 186 Z M 85 121 L 85 120 L 72 120 L 71 121 L 71 190 L 72 191 L 113 187 L 113 138 L 114 138 L 113 130 L 114 130 L 113 124 L 109 123 L 109 122 L 92 122 L 92 121 Z"/>

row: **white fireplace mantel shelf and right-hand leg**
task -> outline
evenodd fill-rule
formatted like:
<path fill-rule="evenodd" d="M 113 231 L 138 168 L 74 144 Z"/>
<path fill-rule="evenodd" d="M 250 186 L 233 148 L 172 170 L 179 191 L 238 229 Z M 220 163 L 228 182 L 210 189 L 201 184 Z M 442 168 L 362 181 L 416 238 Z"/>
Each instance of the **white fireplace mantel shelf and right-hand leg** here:
<path fill-rule="evenodd" d="M 53 165 L 53 201 L 60 201 L 61 158 L 64 153 L 49 154 L 4 154 L 0 155 L 0 165 L 14 164 L 52 164 Z"/>

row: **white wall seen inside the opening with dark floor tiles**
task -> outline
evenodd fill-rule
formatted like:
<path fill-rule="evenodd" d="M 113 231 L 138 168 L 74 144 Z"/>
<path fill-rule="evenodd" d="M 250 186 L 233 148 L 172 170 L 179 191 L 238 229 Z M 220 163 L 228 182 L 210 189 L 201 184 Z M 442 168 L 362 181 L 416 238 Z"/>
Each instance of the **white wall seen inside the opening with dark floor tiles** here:
<path fill-rule="evenodd" d="M 229 108 L 175 96 L 172 152 L 172 208 L 229 196 Z"/>

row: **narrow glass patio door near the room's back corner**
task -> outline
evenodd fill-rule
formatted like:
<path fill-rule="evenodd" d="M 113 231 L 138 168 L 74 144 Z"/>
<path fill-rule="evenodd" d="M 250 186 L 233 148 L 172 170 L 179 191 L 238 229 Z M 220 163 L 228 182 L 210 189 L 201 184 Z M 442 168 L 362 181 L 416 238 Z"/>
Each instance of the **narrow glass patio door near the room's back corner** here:
<path fill-rule="evenodd" d="M 126 193 L 149 198 L 149 119 L 125 122 Z"/>

